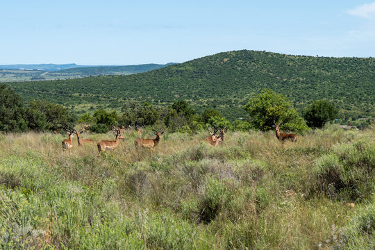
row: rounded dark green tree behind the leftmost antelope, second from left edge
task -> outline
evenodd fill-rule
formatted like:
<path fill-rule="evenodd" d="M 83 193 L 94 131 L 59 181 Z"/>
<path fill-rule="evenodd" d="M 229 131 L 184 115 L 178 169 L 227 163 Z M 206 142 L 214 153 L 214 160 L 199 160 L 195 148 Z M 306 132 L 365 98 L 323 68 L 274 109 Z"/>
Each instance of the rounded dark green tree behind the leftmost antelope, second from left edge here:
<path fill-rule="evenodd" d="M 59 104 L 49 101 L 30 101 L 27 115 L 28 125 L 37 131 L 60 130 L 67 126 L 74 126 L 76 115 Z"/>

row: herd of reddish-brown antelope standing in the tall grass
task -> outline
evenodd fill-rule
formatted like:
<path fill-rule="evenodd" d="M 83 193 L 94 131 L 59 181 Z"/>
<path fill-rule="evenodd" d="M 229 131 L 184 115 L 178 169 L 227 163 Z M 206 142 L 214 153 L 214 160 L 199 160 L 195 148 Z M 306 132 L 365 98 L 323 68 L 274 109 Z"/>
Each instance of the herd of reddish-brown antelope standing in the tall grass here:
<path fill-rule="evenodd" d="M 274 127 L 275 127 L 275 130 L 276 130 L 276 138 L 279 140 L 279 141 L 284 141 L 284 140 L 291 140 L 292 142 L 296 142 L 297 141 L 297 135 L 294 134 L 294 133 L 281 133 L 280 132 L 280 126 L 281 126 L 282 122 L 276 124 L 276 122 L 274 122 Z M 68 133 L 68 137 L 69 139 L 67 140 L 63 140 L 63 149 L 64 150 L 69 150 L 73 147 L 73 138 L 74 138 L 74 134 L 77 136 L 77 142 L 78 142 L 78 146 L 83 146 L 85 144 L 94 144 L 94 140 L 88 138 L 88 139 L 82 139 L 81 138 L 81 134 L 84 133 L 85 131 L 88 130 L 90 125 L 86 125 L 84 128 L 82 128 L 81 131 L 76 131 L 74 128 L 66 128 L 66 131 Z M 210 136 L 208 136 L 205 141 L 207 141 L 210 146 L 212 147 L 216 147 L 217 145 L 219 144 L 222 144 L 224 142 L 224 138 L 225 138 L 225 134 L 226 134 L 226 127 L 225 126 L 224 128 L 220 128 L 219 126 L 213 126 L 213 129 L 211 131 L 211 129 L 208 127 L 207 130 L 210 132 Z M 129 128 L 132 128 L 132 126 L 129 126 Z M 113 150 L 113 149 L 116 149 L 117 146 L 119 145 L 119 140 L 124 140 L 124 136 L 122 136 L 122 132 L 125 131 L 125 128 L 124 126 L 122 126 L 122 128 L 116 128 L 115 126 L 112 128 L 112 131 L 115 133 L 115 140 L 101 140 L 100 142 L 97 143 L 97 147 L 98 147 L 98 151 L 99 153 L 101 153 L 101 151 L 106 151 L 106 150 Z M 135 124 L 135 131 L 142 136 L 142 132 L 140 130 L 140 127 Z M 138 149 L 141 149 L 141 148 L 147 148 L 147 149 L 150 149 L 150 153 L 152 154 L 152 150 L 154 147 L 156 147 L 159 142 L 160 142 L 160 139 L 163 135 L 163 131 L 156 131 L 155 129 L 153 129 L 154 131 L 154 134 L 156 135 L 156 138 L 155 139 L 143 139 L 143 138 L 140 138 L 140 139 L 137 139 L 134 141 L 134 144 L 135 144 L 135 147 L 137 147 Z"/>

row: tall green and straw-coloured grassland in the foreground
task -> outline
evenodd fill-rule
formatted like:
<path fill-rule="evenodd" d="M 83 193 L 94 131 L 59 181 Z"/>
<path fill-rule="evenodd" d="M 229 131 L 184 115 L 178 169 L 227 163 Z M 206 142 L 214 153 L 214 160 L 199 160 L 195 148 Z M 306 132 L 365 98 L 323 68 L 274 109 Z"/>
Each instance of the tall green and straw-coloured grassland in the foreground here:
<path fill-rule="evenodd" d="M 152 156 L 134 131 L 101 156 L 0 135 L 0 248 L 373 249 L 374 126 L 296 143 L 229 131 L 215 148 L 207 135 L 165 133 Z"/>

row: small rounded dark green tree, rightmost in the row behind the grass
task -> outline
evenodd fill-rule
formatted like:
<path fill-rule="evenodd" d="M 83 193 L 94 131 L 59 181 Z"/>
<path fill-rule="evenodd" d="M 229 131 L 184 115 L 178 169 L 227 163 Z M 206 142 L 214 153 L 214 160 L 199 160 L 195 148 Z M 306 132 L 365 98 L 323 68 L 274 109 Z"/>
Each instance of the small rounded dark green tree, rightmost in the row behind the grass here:
<path fill-rule="evenodd" d="M 327 100 L 317 100 L 306 107 L 305 120 L 308 126 L 322 128 L 338 115 L 338 108 Z"/>

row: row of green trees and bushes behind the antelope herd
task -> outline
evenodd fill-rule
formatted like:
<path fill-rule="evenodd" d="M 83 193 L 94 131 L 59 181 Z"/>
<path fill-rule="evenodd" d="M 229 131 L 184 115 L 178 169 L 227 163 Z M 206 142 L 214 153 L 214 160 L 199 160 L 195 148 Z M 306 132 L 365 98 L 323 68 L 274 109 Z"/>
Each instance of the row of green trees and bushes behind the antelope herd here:
<path fill-rule="evenodd" d="M 80 117 L 64 106 L 45 100 L 30 101 L 25 106 L 24 101 L 6 85 L 0 85 L 0 101 L 0 131 L 6 132 L 64 132 L 76 124 L 90 124 L 90 131 L 94 133 L 106 133 L 114 126 L 151 126 L 183 133 L 196 133 L 208 127 L 269 131 L 279 124 L 284 131 L 304 133 L 310 128 L 322 128 L 326 122 L 337 119 L 339 113 L 333 103 L 319 100 L 308 106 L 304 117 L 300 117 L 287 97 L 269 89 L 248 99 L 242 107 L 248 114 L 247 119 L 236 119 L 233 122 L 213 108 L 206 108 L 199 114 L 186 101 L 176 101 L 170 106 L 126 101 L 121 112 L 99 109 Z"/>

